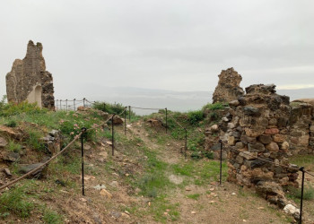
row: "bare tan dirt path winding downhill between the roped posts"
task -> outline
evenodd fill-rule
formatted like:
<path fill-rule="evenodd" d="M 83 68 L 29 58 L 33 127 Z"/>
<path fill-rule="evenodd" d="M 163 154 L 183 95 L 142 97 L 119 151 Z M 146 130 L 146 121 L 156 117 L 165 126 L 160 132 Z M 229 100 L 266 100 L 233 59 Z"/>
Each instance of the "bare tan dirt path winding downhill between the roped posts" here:
<path fill-rule="evenodd" d="M 141 138 L 159 157 L 169 165 L 185 164 L 188 161 L 179 153 L 182 142 L 171 141 L 158 144 L 156 138 L 150 137 L 144 123 L 137 123 L 131 131 Z M 205 161 L 200 161 L 200 163 Z M 192 172 L 196 172 L 192 170 Z M 266 200 L 251 191 L 243 190 L 238 185 L 224 182 L 222 186 L 217 182 L 205 185 L 193 184 L 194 177 L 185 177 L 173 173 L 169 169 L 167 175 L 170 181 L 180 185 L 188 181 L 188 185 L 170 190 L 167 200 L 178 204 L 179 219 L 177 223 L 290 223 L 292 218 L 283 211 L 277 211 Z M 164 215 L 169 219 L 168 211 Z"/>

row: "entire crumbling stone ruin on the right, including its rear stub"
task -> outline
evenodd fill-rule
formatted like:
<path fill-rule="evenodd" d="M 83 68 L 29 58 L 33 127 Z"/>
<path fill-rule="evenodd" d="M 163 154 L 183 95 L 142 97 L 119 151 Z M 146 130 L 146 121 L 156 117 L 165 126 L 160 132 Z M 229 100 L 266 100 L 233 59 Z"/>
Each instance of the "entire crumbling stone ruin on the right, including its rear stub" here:
<path fill-rule="evenodd" d="M 240 93 L 230 85 L 239 86 L 240 75 L 232 68 L 227 71 L 222 74 L 233 73 L 235 81 L 231 75 L 222 79 L 221 74 L 213 102 L 229 102 L 229 107 L 221 111 L 224 116 L 219 124 L 206 129 L 205 148 L 218 159 L 221 139 L 229 181 L 255 187 L 269 202 L 284 207 L 283 187 L 299 186 L 298 168 L 289 163 L 289 157 L 314 153 L 314 100 L 290 103 L 289 97 L 276 94 L 274 84 L 251 85 L 246 94 Z"/>

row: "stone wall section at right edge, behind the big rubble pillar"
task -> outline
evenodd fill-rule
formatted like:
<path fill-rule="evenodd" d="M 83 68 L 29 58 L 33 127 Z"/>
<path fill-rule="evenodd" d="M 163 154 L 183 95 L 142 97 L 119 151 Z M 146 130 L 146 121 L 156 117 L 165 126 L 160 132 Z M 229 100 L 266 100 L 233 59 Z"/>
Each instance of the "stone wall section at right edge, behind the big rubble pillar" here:
<path fill-rule="evenodd" d="M 314 149 L 314 110 L 310 103 L 292 103 L 290 150 L 293 155 L 310 154 Z"/>

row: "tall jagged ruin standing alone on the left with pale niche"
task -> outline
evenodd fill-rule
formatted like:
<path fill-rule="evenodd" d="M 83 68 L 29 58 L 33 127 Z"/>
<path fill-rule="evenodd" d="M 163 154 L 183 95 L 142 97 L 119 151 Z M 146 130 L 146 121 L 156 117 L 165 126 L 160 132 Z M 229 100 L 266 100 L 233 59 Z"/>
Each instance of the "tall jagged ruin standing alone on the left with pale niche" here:
<path fill-rule="evenodd" d="M 9 102 L 27 100 L 37 102 L 39 108 L 55 108 L 51 73 L 46 71 L 41 43 L 30 40 L 24 59 L 15 59 L 12 70 L 6 74 L 6 94 Z"/>

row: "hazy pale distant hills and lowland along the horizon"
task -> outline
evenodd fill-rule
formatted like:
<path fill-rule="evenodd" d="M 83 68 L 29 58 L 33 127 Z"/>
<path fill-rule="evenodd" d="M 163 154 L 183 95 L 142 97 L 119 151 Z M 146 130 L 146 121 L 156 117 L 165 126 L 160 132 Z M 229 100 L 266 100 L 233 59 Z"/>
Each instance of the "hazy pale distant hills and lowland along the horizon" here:
<path fill-rule="evenodd" d="M 101 85 L 85 84 L 71 92 L 71 96 L 63 99 L 89 99 L 122 103 L 143 108 L 169 108 L 176 111 L 188 111 L 202 108 L 206 103 L 212 102 L 213 91 L 173 91 L 153 90 L 133 87 L 106 87 Z M 291 100 L 301 98 L 314 98 L 314 88 L 301 90 L 277 90 L 278 94 L 289 96 Z M 56 99 L 59 99 L 56 96 Z M 152 110 L 135 110 L 139 115 L 150 114 Z"/>

